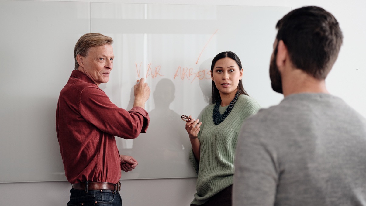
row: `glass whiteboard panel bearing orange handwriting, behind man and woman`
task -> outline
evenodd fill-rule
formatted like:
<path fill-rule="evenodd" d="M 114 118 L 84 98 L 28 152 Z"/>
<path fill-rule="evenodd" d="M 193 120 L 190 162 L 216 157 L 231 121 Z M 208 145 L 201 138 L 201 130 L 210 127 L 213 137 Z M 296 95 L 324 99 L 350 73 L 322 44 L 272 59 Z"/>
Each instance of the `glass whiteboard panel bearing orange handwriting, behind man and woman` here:
<path fill-rule="evenodd" d="M 111 36 L 114 68 L 101 85 L 111 101 L 130 109 L 132 86 L 145 78 L 151 121 L 137 139 L 116 137 L 121 154 L 139 165 L 122 179 L 195 177 L 180 115 L 197 119 L 211 97 L 214 56 L 235 52 L 244 67 L 244 88 L 263 107 L 281 95 L 270 87 L 269 59 L 275 25 L 289 7 L 91 3 L 91 30 Z"/>

